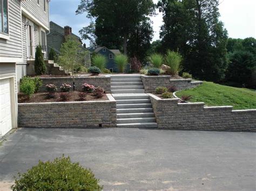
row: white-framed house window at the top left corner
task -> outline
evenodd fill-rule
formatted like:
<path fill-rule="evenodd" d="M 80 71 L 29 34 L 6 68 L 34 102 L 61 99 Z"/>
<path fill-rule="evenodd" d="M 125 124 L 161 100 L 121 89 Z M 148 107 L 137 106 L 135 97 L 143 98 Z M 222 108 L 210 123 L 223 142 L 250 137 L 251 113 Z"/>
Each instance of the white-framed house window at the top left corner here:
<path fill-rule="evenodd" d="M 0 33 L 9 34 L 8 0 L 0 0 Z"/>

